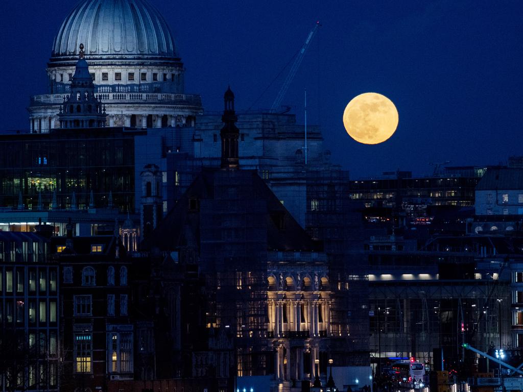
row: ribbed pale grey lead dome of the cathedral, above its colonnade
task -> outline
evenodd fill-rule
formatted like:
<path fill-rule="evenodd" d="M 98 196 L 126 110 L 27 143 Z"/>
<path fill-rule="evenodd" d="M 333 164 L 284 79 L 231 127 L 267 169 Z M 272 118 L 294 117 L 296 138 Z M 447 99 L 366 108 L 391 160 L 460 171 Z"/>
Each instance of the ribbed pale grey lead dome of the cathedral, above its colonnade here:
<path fill-rule="evenodd" d="M 65 18 L 53 43 L 51 62 L 90 59 L 177 59 L 164 18 L 146 0 L 83 0 Z"/>

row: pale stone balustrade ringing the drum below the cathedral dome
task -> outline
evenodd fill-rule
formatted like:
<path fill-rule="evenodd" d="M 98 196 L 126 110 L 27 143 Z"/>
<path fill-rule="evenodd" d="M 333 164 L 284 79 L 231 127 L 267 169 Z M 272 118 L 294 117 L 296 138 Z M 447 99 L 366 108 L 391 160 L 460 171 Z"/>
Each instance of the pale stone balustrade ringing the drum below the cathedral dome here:
<path fill-rule="evenodd" d="M 62 103 L 69 94 L 42 94 L 31 97 L 31 106 L 56 105 Z M 195 94 L 170 93 L 98 93 L 103 103 L 147 102 L 174 103 L 178 105 L 201 106 L 201 97 Z"/>

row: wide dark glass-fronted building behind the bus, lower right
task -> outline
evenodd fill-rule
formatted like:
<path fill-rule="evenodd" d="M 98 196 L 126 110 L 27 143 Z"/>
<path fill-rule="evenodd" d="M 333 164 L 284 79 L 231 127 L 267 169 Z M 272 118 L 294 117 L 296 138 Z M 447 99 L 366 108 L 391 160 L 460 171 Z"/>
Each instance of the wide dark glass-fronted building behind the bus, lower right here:
<path fill-rule="evenodd" d="M 434 349 L 441 348 L 448 370 L 472 371 L 476 355 L 462 343 L 482 351 L 512 347 L 510 266 L 517 256 L 496 253 L 495 246 L 482 245 L 484 239 L 476 238 L 480 246 L 469 240 L 460 251 L 453 251 L 450 238 L 424 251 L 368 251 L 375 365 L 397 356 L 434 363 Z M 395 241 L 389 236 L 391 246 Z"/>

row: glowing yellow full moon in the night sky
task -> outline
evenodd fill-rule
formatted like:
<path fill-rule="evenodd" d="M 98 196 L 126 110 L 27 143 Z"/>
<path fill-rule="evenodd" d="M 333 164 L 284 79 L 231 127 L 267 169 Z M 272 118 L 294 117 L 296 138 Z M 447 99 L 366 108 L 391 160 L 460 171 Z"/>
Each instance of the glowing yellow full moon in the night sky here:
<path fill-rule="evenodd" d="M 354 97 L 343 112 L 345 130 L 355 141 L 383 143 L 396 131 L 399 117 L 392 101 L 378 93 Z"/>

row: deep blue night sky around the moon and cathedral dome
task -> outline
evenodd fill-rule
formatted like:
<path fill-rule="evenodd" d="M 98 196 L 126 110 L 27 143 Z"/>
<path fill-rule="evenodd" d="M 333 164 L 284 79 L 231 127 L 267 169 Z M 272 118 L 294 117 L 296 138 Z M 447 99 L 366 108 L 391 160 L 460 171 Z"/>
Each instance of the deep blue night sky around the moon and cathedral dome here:
<path fill-rule="evenodd" d="M 150 0 L 172 28 L 187 68 L 186 92 L 222 109 L 230 84 L 236 107 L 268 108 L 288 71 L 257 100 L 320 20 L 282 103 L 322 125 L 326 147 L 351 177 L 383 170 L 423 174 L 429 162 L 482 165 L 523 155 L 520 1 Z M 54 34 L 75 1 L 0 5 L 4 129 L 27 129 L 31 94 L 47 93 Z M 377 146 L 346 134 L 342 114 L 354 96 L 375 91 L 400 114 Z"/>

